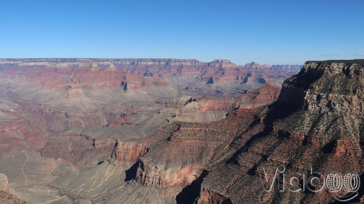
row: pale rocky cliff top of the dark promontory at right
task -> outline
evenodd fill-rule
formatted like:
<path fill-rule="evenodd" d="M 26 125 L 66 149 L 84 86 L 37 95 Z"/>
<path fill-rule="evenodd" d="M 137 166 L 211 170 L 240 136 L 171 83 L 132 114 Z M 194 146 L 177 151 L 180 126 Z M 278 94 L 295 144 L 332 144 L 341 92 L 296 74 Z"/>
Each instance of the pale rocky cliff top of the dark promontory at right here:
<path fill-rule="evenodd" d="M 311 113 L 330 111 L 362 118 L 363 79 L 363 65 L 355 60 L 352 63 L 308 61 L 300 73 L 286 80 L 280 101 Z"/>

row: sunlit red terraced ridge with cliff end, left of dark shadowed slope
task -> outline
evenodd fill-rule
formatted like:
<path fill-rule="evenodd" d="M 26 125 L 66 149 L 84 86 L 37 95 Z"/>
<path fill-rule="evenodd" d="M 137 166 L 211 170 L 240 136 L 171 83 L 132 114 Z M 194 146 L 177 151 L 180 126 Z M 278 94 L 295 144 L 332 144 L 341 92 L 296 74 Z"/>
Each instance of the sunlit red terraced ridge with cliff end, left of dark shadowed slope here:
<path fill-rule="evenodd" d="M 161 196 L 177 195 L 209 168 L 209 162 L 222 159 L 218 152 L 229 147 L 233 138 L 247 128 L 229 127 L 249 124 L 256 113 L 255 109 L 241 109 L 222 120 L 221 126 L 217 122 L 174 122 L 159 128 L 147 140 L 150 149 L 138 161 L 136 181 L 154 186 Z"/>

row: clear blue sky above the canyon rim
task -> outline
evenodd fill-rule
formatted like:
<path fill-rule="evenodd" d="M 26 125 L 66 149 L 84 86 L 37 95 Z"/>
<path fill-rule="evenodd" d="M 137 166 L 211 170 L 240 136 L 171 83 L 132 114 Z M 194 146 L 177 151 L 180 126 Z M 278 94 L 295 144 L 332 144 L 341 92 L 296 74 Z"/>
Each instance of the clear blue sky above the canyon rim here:
<path fill-rule="evenodd" d="M 4 0 L 0 8 L 0 58 L 364 58 L 364 0 Z"/>

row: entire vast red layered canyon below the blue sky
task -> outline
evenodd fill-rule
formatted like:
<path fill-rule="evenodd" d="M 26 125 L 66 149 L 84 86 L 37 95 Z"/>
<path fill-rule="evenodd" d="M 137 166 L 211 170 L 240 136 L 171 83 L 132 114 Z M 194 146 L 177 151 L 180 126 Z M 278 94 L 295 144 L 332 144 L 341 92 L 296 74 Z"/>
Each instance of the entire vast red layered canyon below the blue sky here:
<path fill-rule="evenodd" d="M 363 174 L 363 67 L 0 59 L 0 187 L 31 203 L 331 203 L 265 192 L 258 167 Z"/>

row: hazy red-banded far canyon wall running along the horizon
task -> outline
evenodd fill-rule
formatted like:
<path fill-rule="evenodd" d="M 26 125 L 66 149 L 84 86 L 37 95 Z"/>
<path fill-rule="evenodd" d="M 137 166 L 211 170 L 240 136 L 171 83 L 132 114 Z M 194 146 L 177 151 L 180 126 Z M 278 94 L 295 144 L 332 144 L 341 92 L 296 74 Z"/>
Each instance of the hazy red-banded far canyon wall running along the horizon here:
<path fill-rule="evenodd" d="M 184 89 L 232 97 L 241 94 L 240 90 L 257 89 L 265 81 L 280 86 L 285 78 L 292 76 L 281 68 L 263 69 L 256 63 L 237 66 L 229 60 L 0 59 L 0 68 L 0 78 L 40 84 L 46 90 L 122 87 L 125 91 L 153 90 L 153 94 L 164 96 L 170 96 L 173 89 Z M 170 87 L 155 88 L 161 85 Z"/>

